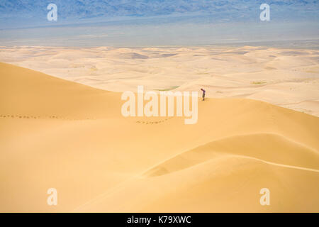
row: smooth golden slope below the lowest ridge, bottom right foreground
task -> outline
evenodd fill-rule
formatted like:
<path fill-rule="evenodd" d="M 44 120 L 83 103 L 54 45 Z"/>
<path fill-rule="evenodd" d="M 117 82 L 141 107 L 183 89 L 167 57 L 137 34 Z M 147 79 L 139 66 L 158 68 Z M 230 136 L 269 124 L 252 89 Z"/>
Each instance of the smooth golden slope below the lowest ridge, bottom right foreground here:
<path fill-rule="evenodd" d="M 159 177 L 136 178 L 80 206 L 89 212 L 313 212 L 319 211 L 319 173 L 221 155 Z M 259 203 L 270 190 L 270 206 Z"/>

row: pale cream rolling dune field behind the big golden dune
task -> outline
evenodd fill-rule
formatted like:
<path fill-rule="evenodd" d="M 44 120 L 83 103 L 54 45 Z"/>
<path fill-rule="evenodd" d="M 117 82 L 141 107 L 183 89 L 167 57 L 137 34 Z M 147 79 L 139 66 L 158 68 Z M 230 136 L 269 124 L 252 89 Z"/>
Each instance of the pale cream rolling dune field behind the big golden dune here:
<path fill-rule="evenodd" d="M 113 92 L 207 91 L 319 116 L 319 52 L 267 47 L 0 47 L 6 62 Z"/>

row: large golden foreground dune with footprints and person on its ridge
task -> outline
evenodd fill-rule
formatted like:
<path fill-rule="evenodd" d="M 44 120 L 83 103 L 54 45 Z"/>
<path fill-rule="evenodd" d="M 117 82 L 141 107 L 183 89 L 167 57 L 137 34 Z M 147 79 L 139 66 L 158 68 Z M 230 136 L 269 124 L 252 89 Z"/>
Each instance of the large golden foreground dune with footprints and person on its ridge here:
<path fill-rule="evenodd" d="M 5 63 L 0 84 L 2 212 L 319 211 L 316 116 L 207 99 L 185 125 L 124 118 L 121 93 Z M 57 206 L 47 205 L 51 187 Z M 262 188 L 270 206 L 259 204 Z"/>

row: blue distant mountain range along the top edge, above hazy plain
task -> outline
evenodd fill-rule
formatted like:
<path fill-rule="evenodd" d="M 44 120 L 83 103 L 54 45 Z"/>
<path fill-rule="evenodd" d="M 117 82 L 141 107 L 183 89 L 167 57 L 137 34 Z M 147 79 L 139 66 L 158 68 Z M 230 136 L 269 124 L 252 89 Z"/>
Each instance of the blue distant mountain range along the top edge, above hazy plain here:
<path fill-rule="evenodd" d="M 0 0 L 0 27 L 46 25 L 47 5 L 57 5 L 59 23 L 94 19 L 158 16 L 215 16 L 219 21 L 249 21 L 259 15 L 259 6 L 271 6 L 275 18 L 318 21 L 317 0 Z M 274 18 L 274 17 L 273 17 Z"/>

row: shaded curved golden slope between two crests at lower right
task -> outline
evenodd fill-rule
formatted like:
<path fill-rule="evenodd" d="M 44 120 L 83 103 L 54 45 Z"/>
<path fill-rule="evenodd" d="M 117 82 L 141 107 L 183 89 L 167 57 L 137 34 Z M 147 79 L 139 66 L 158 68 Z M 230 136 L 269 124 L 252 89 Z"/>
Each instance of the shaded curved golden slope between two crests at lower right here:
<path fill-rule="evenodd" d="M 206 162 L 223 153 L 255 157 L 279 165 L 319 169 L 319 153 L 317 151 L 281 135 L 259 133 L 237 135 L 206 143 L 162 162 L 145 172 L 144 176 L 166 175 Z"/>

